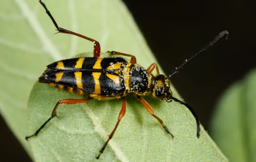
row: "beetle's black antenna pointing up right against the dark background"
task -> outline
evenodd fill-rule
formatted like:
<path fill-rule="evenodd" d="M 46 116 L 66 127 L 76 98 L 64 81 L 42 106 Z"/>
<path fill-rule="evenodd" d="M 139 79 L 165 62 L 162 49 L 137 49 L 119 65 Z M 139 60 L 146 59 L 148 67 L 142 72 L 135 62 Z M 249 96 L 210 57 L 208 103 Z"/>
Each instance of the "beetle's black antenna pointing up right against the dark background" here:
<path fill-rule="evenodd" d="M 212 41 L 210 41 L 204 48 L 202 48 L 196 55 L 193 55 L 190 59 L 185 60 L 179 67 L 176 67 L 174 70 L 172 70 L 172 73 L 169 75 L 168 79 L 172 79 L 175 74 L 177 74 L 179 72 L 179 70 L 185 66 L 189 61 L 191 61 L 192 59 L 196 58 L 196 56 L 198 56 L 199 54 L 203 53 L 204 51 L 206 51 L 209 47 L 212 47 L 213 44 L 218 41 L 221 37 L 223 37 L 224 35 L 226 35 L 226 39 L 228 39 L 228 31 L 224 30 L 223 32 L 219 33 Z"/>

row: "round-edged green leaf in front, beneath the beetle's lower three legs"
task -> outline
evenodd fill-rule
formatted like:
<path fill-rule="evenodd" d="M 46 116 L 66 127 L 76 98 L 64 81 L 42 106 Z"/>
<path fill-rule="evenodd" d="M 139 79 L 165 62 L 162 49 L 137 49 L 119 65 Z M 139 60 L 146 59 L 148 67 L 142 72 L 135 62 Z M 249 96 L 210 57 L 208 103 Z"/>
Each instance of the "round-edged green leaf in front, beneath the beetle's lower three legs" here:
<path fill-rule="evenodd" d="M 28 104 L 31 134 L 50 117 L 57 101 L 65 98 L 82 97 L 50 88 L 48 84 L 35 84 Z M 166 135 L 135 96 L 128 96 L 126 114 L 101 160 L 227 161 L 204 130 L 199 139 L 196 137 L 196 122 L 186 107 L 149 96 L 144 98 L 164 120 L 174 139 Z M 121 106 L 121 100 L 59 106 L 59 118 L 54 118 L 37 137 L 30 139 L 36 160 L 96 161 L 95 156 L 115 127 Z"/>

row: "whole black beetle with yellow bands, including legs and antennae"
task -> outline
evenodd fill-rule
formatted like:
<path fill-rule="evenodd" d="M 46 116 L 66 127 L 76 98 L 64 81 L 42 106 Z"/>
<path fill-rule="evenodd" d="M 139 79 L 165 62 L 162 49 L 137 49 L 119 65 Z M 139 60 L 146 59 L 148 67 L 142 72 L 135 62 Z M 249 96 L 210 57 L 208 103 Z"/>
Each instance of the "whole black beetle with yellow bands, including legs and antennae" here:
<path fill-rule="evenodd" d="M 66 60 L 60 60 L 47 66 L 41 77 L 39 77 L 40 83 L 48 83 L 52 87 L 57 87 L 60 90 L 66 90 L 69 93 L 78 93 L 84 95 L 89 93 L 89 97 L 86 99 L 61 99 L 55 105 L 52 116 L 44 122 L 44 124 L 31 136 L 27 136 L 26 139 L 36 136 L 41 129 L 56 115 L 56 110 L 59 105 L 74 105 L 87 102 L 91 99 L 109 100 L 109 99 L 121 99 L 122 108 L 118 116 L 118 120 L 115 128 L 108 137 L 107 142 L 100 150 L 100 154 L 105 150 L 108 141 L 114 136 L 114 133 L 118 127 L 119 122 L 124 117 L 126 111 L 125 96 L 127 94 L 134 94 L 138 100 L 146 108 L 149 114 L 155 117 L 163 126 L 167 134 L 174 137 L 163 121 L 157 117 L 153 108 L 141 97 L 145 94 L 151 94 L 153 97 L 171 102 L 172 100 L 179 102 L 186 106 L 190 112 L 194 115 L 197 124 L 196 135 L 200 136 L 200 122 L 196 112 L 192 107 L 183 101 L 176 99 L 172 96 L 170 89 L 170 79 L 174 77 L 177 72 L 185 66 L 190 60 L 194 59 L 197 55 L 201 54 L 209 47 L 211 47 L 216 41 L 218 41 L 224 35 L 228 38 L 228 31 L 223 31 L 218 34 L 214 40 L 209 42 L 204 48 L 202 48 L 197 54 L 193 55 L 190 59 L 185 60 L 179 67 L 174 69 L 172 73 L 165 77 L 159 74 L 159 70 L 156 63 L 152 63 L 148 69 L 145 69 L 137 64 L 136 57 L 129 54 L 111 51 L 112 55 L 122 55 L 131 57 L 130 61 L 126 61 L 122 57 L 100 57 L 100 43 L 84 35 L 74 33 L 72 31 L 60 28 L 50 11 L 46 8 L 45 4 L 39 0 L 40 4 L 44 7 L 46 13 L 52 19 L 53 24 L 57 28 L 57 33 L 68 33 L 84 38 L 88 41 L 92 41 L 94 44 L 93 57 L 79 57 Z M 156 69 L 156 76 L 152 74 Z M 96 157 L 99 159 L 100 154 Z"/>

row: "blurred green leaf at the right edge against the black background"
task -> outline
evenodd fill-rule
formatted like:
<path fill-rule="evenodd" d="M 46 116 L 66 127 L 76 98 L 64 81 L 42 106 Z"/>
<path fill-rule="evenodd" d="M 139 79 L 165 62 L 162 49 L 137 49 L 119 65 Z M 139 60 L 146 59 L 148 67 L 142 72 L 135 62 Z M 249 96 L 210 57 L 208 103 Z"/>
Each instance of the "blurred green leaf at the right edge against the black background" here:
<path fill-rule="evenodd" d="M 256 70 L 222 95 L 212 119 L 211 135 L 233 162 L 256 161 Z"/>

